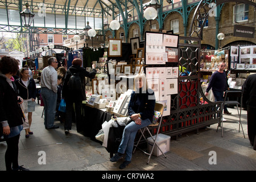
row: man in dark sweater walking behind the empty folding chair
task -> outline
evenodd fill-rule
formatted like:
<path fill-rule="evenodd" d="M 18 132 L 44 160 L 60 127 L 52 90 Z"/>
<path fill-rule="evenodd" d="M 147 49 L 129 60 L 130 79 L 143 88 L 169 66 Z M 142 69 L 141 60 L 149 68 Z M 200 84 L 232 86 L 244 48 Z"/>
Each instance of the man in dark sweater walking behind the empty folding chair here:
<path fill-rule="evenodd" d="M 226 64 L 221 61 L 218 64 L 218 70 L 214 72 L 210 77 L 210 81 L 205 92 L 205 96 L 208 96 L 210 89 L 212 89 L 212 93 L 215 97 L 215 102 L 224 101 L 224 91 L 228 90 L 228 82 L 226 80 L 226 73 L 224 72 L 225 68 Z M 229 113 L 226 105 L 224 106 L 224 114 L 232 114 Z"/>

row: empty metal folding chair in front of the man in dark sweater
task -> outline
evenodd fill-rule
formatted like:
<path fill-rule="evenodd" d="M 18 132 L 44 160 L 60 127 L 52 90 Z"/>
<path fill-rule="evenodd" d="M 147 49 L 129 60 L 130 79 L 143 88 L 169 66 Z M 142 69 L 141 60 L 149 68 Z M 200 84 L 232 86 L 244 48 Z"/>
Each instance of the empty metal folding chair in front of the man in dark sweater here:
<path fill-rule="evenodd" d="M 226 100 L 227 98 L 229 98 L 229 100 Z M 239 130 L 238 132 L 240 132 L 240 125 L 243 131 L 243 126 L 241 123 L 241 111 L 242 111 L 242 91 L 240 90 L 227 90 L 224 94 L 224 102 L 222 103 L 222 108 L 221 108 L 221 126 L 220 123 L 218 123 L 218 127 L 221 127 L 221 137 L 223 137 L 223 110 L 224 110 L 224 105 L 236 105 L 237 106 L 237 113 L 238 113 L 238 117 L 239 117 L 239 121 L 237 121 L 239 123 Z M 240 111 L 238 110 L 238 105 L 240 105 Z M 218 127 L 217 127 L 217 131 L 218 131 Z M 217 132 L 216 131 L 216 132 Z M 243 137 L 245 138 L 245 133 L 243 133 Z"/>

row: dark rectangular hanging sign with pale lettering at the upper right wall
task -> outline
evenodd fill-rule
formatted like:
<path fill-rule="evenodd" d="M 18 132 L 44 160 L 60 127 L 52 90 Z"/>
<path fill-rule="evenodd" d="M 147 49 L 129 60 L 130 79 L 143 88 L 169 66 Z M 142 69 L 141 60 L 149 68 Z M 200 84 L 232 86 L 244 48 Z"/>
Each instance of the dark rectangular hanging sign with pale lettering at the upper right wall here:
<path fill-rule="evenodd" d="M 254 27 L 234 25 L 234 36 L 240 36 L 242 38 L 254 38 Z"/>

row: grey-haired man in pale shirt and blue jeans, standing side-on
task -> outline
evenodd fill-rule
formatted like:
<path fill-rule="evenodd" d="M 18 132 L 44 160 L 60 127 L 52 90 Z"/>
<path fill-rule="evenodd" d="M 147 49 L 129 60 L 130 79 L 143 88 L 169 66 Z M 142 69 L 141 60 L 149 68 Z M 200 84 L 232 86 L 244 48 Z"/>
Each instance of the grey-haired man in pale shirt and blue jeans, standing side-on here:
<path fill-rule="evenodd" d="M 54 125 L 57 102 L 57 68 L 56 57 L 49 57 L 48 67 L 41 73 L 41 96 L 44 102 L 44 126 L 46 129 L 58 129 Z"/>

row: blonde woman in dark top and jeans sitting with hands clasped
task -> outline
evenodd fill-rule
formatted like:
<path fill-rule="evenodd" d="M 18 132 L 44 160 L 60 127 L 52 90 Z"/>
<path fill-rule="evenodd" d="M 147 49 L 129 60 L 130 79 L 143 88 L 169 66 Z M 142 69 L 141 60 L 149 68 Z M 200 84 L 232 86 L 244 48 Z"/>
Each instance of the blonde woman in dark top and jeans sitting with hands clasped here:
<path fill-rule="evenodd" d="M 146 75 L 138 74 L 134 78 L 134 90 L 128 106 L 128 113 L 132 120 L 123 130 L 123 136 L 117 154 L 110 159 L 117 162 L 126 152 L 125 162 L 119 168 L 123 169 L 131 163 L 134 139 L 137 131 L 152 123 L 155 108 L 155 94 L 147 88 Z"/>

